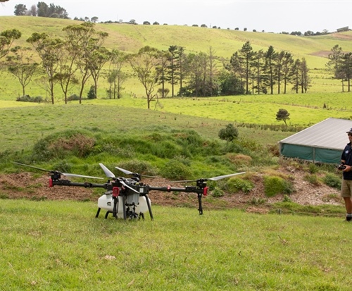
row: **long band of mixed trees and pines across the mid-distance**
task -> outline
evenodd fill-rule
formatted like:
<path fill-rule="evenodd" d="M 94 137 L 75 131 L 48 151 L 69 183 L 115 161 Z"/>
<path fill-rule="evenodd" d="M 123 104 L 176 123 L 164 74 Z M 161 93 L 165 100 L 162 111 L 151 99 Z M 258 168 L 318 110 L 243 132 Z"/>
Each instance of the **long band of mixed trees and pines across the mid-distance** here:
<path fill-rule="evenodd" d="M 107 97 L 118 99 L 125 80 L 137 78 L 144 87 L 148 108 L 151 100 L 168 96 L 280 94 L 288 89 L 304 93 L 310 84 L 306 60 L 295 60 L 272 46 L 266 51 L 253 51 L 246 42 L 230 60 L 216 56 L 211 47 L 207 52 L 189 54 L 184 47 L 173 45 L 167 51 L 143 47 L 137 54 L 125 54 L 103 47 L 108 34 L 96 31 L 94 26 L 91 22 L 68 25 L 63 28 L 63 38 L 34 32 L 27 43 L 37 52 L 40 63 L 34 61 L 37 58 L 28 47 L 10 49 L 13 40 L 20 37 L 18 30 L 1 32 L 6 46 L 0 47 L 0 58 L 6 56 L 6 68 L 18 78 L 23 96 L 34 77 L 53 104 L 56 87 L 61 88 L 65 102 L 79 87 L 75 99 L 81 102 L 88 80 L 94 83 L 89 98 L 96 98 L 99 78 L 103 77 L 108 83 Z M 126 66 L 132 68 L 133 76 L 125 73 Z"/>

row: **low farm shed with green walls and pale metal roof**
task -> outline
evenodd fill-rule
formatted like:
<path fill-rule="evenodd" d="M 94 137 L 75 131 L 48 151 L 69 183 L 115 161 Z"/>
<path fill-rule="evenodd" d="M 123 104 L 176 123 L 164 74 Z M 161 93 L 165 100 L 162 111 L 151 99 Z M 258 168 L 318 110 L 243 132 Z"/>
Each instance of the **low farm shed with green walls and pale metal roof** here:
<path fill-rule="evenodd" d="M 313 162 L 339 163 L 341 152 L 348 143 L 346 131 L 350 128 L 351 120 L 327 118 L 280 140 L 280 155 Z"/>

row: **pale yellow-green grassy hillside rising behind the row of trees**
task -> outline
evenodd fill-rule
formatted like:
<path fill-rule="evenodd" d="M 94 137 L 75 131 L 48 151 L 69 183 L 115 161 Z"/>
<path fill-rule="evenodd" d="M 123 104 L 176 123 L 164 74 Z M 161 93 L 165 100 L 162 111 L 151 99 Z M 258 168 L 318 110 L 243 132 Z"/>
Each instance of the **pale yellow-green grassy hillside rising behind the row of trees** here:
<path fill-rule="evenodd" d="M 17 28 L 23 34 L 14 45 L 28 46 L 26 39 L 33 32 L 49 32 L 52 35 L 63 36 L 63 27 L 79 24 L 77 20 L 61 20 L 55 18 L 39 18 L 30 16 L 2 16 L 1 31 Z M 189 27 L 180 25 L 128 25 L 118 23 L 97 23 L 96 30 L 108 32 L 105 46 L 109 49 L 120 49 L 126 52 L 137 52 L 141 47 L 149 45 L 161 50 L 168 50 L 171 45 L 185 48 L 186 53 L 204 51 L 210 47 L 216 56 L 230 59 L 235 51 L 241 49 L 245 42 L 251 42 L 254 51 L 267 50 L 274 47 L 275 51 L 289 51 L 294 58 L 306 58 L 313 79 L 310 92 L 339 92 L 339 82 L 331 80 L 331 75 L 325 71 L 327 54 L 338 44 L 344 51 L 352 51 L 352 32 L 339 32 L 315 37 L 297 37 L 267 32 L 243 32 L 237 30 L 213 29 L 206 27 Z M 7 99 L 9 94 L 18 95 L 18 85 L 11 83 L 8 74 L 3 76 L 9 82 L 8 89 L 1 94 L 0 99 Z M 101 80 L 103 87 L 103 80 Z M 138 82 L 129 80 L 126 92 L 143 94 Z M 35 94 L 44 93 L 38 88 L 31 88 Z M 105 91 L 101 89 L 101 96 Z M 32 93 L 32 95 L 34 94 Z M 6 96 L 7 95 L 7 96 Z M 13 97 L 12 97 L 13 100 Z"/>

